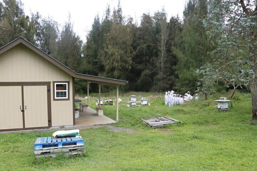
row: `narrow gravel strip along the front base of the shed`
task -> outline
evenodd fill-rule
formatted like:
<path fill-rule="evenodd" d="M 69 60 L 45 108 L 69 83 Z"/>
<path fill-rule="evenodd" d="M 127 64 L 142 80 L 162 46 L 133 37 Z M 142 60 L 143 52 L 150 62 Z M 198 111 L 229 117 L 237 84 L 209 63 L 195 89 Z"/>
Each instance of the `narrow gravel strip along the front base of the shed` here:
<path fill-rule="evenodd" d="M 66 127 L 51 127 L 51 128 L 45 128 L 45 129 L 34 129 L 34 130 L 18 130 L 18 131 L 2 131 L 0 134 L 3 133 L 26 133 L 31 131 L 37 131 L 37 132 L 47 132 L 50 130 L 75 130 L 75 129 L 89 129 L 89 128 L 100 128 L 100 127 L 106 127 L 108 130 L 114 131 L 114 132 L 127 132 L 127 133 L 135 133 L 135 130 L 129 129 L 129 128 L 123 128 L 123 127 L 114 127 L 111 125 L 90 125 L 90 126 L 66 126 Z"/>

